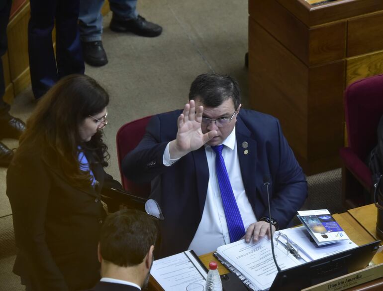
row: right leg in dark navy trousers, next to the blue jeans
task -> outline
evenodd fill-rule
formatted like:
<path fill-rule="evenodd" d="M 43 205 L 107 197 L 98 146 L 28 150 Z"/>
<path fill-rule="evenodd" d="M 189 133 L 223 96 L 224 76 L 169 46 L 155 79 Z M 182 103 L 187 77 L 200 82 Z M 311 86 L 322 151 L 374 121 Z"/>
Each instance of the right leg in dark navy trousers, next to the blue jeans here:
<path fill-rule="evenodd" d="M 84 74 L 78 27 L 80 0 L 60 0 L 56 12 L 56 62 L 58 77 Z"/>

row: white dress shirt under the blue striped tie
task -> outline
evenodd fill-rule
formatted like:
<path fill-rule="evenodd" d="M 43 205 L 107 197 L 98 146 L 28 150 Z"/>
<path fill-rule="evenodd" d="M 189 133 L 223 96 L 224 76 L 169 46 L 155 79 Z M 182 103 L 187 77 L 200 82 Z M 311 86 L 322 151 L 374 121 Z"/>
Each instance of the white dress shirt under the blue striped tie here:
<path fill-rule="evenodd" d="M 234 197 L 242 217 L 245 231 L 250 224 L 257 221 L 253 208 L 246 196 L 245 187 L 242 181 L 241 168 L 237 152 L 237 140 L 235 137 L 235 127 L 231 134 L 223 141 L 222 156 L 225 161 L 230 184 L 233 189 Z M 207 165 L 209 168 L 209 182 L 207 185 L 206 201 L 203 208 L 202 218 L 198 229 L 189 246 L 198 256 L 213 252 L 217 247 L 229 244 L 230 236 L 227 227 L 225 212 L 221 199 L 221 192 L 217 175 L 215 172 L 215 152 L 210 146 L 205 145 Z M 170 166 L 177 159 L 171 159 L 169 144 L 165 148 L 163 162 Z"/>

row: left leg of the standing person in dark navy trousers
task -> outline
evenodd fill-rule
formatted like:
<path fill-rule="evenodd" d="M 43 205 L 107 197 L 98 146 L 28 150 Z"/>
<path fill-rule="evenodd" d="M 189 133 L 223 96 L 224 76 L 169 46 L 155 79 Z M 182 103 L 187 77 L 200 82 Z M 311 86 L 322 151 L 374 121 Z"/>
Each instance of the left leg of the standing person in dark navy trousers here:
<path fill-rule="evenodd" d="M 30 0 L 28 24 L 29 70 L 36 99 L 58 81 L 52 30 L 59 0 Z"/>

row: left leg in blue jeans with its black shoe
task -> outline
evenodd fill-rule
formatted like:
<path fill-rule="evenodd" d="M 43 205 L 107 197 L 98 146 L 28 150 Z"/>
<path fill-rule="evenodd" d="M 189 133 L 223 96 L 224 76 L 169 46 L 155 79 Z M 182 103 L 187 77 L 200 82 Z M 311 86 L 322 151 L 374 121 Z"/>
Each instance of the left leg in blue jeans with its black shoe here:
<path fill-rule="evenodd" d="M 83 56 L 87 64 L 103 66 L 108 63 L 102 46 L 102 14 L 104 0 L 80 0 L 79 28 Z"/>

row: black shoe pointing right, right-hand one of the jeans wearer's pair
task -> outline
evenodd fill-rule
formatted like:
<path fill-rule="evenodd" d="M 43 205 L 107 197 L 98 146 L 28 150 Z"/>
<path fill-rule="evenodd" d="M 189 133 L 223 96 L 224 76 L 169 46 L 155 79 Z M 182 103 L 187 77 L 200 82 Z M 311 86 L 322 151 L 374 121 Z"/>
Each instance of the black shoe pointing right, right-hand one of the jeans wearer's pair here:
<path fill-rule="evenodd" d="M 113 13 L 109 26 L 110 29 L 115 32 L 129 31 L 146 37 L 155 37 L 162 33 L 162 27 L 160 25 L 146 21 L 145 18 L 140 15 L 134 19 L 117 20 Z"/>

